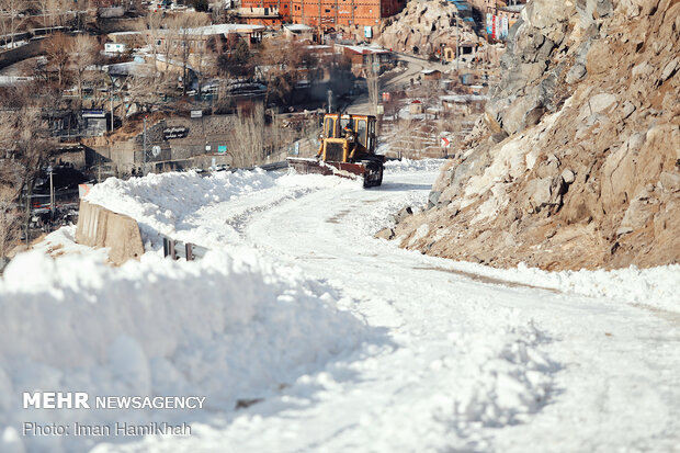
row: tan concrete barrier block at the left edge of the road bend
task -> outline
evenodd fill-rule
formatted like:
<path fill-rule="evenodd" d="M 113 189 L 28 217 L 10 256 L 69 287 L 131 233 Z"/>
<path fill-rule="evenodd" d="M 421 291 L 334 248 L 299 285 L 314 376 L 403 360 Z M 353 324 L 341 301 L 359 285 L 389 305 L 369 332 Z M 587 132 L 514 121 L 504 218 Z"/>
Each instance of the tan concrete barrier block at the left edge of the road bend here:
<path fill-rule="evenodd" d="M 109 259 L 116 265 L 144 253 L 137 222 L 100 205 L 80 201 L 76 242 L 90 247 L 110 247 Z"/>

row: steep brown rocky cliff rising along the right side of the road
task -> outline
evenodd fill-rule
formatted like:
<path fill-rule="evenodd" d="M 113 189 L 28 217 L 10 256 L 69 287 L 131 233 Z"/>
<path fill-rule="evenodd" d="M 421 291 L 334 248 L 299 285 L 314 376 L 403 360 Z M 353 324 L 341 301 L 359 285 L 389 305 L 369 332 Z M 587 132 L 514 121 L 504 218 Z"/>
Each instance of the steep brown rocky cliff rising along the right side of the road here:
<path fill-rule="evenodd" d="M 543 269 L 680 260 L 680 2 L 533 0 L 401 245 Z"/>

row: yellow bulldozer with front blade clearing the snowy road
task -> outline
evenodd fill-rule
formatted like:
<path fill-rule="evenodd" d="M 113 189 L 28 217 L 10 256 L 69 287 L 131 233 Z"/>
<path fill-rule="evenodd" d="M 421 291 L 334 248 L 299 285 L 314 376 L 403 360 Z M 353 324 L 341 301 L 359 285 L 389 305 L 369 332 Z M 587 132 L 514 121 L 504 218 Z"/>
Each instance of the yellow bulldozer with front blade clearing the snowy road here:
<path fill-rule="evenodd" d="M 298 173 L 362 178 L 364 188 L 383 183 L 385 156 L 375 154 L 377 137 L 373 115 L 327 113 L 316 158 L 288 158 Z"/>

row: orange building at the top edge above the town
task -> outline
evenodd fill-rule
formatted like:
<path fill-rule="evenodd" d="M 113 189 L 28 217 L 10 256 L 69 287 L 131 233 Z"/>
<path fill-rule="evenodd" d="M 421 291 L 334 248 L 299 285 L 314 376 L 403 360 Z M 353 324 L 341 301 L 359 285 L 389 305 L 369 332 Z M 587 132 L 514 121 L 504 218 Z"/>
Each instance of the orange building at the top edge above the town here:
<path fill-rule="evenodd" d="M 309 26 L 338 30 L 354 25 L 375 31 L 381 19 L 398 13 L 405 4 L 406 0 L 242 0 L 241 9 L 276 10 L 282 21 Z"/>

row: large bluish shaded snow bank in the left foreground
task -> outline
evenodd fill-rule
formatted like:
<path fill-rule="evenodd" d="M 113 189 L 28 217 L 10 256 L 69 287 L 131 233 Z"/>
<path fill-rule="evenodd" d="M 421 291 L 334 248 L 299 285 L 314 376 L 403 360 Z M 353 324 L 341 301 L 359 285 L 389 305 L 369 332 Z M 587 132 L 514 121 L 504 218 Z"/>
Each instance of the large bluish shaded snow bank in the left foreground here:
<path fill-rule="evenodd" d="M 0 427 L 8 427 L 0 451 L 21 450 L 15 434 L 24 421 L 205 417 L 195 410 L 23 410 L 23 392 L 196 395 L 206 397 L 207 410 L 220 411 L 237 399 L 268 397 L 360 344 L 366 327 L 333 306 L 324 286 L 299 270 L 245 248 L 189 263 L 147 253 L 121 268 L 101 263 L 97 253 L 20 254 L 0 280 Z M 30 451 L 91 445 L 72 435 L 20 439 Z"/>

